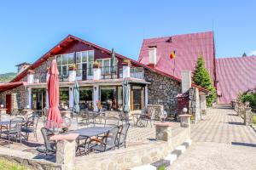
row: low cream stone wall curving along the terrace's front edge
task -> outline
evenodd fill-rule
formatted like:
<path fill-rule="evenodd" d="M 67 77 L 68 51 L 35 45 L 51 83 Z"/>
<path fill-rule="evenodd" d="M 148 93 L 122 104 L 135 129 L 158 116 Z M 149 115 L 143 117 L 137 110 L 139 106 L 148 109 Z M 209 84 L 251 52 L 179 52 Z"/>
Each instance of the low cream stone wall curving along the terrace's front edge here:
<path fill-rule="evenodd" d="M 96 155 L 76 157 L 76 169 L 119 170 L 137 167 L 159 161 L 187 139 L 190 139 L 190 128 L 177 127 L 172 134 L 172 141 L 153 141 L 149 144 L 138 144 L 125 149 L 108 151 Z"/>

